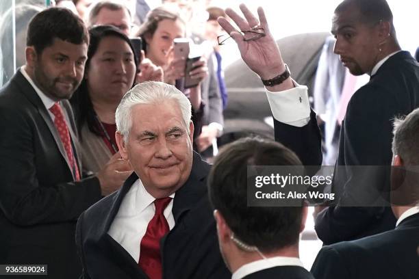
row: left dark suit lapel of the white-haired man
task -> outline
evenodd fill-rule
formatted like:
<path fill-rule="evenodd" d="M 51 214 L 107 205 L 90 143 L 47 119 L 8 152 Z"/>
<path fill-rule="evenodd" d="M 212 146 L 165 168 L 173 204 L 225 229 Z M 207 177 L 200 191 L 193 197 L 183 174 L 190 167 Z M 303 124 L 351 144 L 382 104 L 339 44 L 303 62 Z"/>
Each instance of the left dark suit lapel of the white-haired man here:
<path fill-rule="evenodd" d="M 123 198 L 137 179 L 138 176 L 134 172 L 131 176 L 129 176 L 129 178 L 127 178 L 123 187 L 121 187 L 116 194 L 112 195 L 110 202 L 103 203 L 103 215 L 106 217 L 99 222 L 97 226 L 97 234 L 94 235 L 92 240 L 99 243 L 101 248 L 105 248 L 105 250 L 108 251 L 107 254 L 112 258 L 112 261 L 114 261 L 120 269 L 129 274 L 129 278 L 147 278 L 140 267 L 138 267 L 138 263 L 134 261 L 134 258 L 132 258 L 132 256 L 117 241 L 107 234 L 116 214 L 118 213 Z"/>

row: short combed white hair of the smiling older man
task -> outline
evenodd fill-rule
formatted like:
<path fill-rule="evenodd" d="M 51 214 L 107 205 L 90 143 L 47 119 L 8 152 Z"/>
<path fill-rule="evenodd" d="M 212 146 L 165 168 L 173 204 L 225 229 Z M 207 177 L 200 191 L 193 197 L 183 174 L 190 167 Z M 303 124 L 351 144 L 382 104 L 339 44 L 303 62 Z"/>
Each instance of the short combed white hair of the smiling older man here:
<path fill-rule="evenodd" d="M 160 81 L 144 81 L 137 84 L 123 96 L 115 113 L 116 130 L 127 142 L 129 130 L 132 126 L 131 110 L 134 105 L 150 105 L 165 103 L 168 100 L 174 100 L 181 109 L 183 122 L 189 133 L 189 124 L 192 116 L 192 106 L 189 99 L 179 91 L 175 86 Z M 158 114 L 158 111 L 155 112 Z"/>

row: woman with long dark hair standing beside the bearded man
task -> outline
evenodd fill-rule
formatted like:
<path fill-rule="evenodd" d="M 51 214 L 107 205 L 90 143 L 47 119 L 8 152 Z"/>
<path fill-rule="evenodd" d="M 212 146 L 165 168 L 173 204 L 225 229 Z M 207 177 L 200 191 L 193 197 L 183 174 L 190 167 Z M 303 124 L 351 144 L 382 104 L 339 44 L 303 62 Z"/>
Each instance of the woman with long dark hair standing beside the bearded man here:
<path fill-rule="evenodd" d="M 138 58 L 119 29 L 100 25 L 89 30 L 90 44 L 84 79 L 71 98 L 86 171 L 98 172 L 109 163 L 130 170 L 120 159 L 115 141 L 115 111 L 134 86 Z"/>

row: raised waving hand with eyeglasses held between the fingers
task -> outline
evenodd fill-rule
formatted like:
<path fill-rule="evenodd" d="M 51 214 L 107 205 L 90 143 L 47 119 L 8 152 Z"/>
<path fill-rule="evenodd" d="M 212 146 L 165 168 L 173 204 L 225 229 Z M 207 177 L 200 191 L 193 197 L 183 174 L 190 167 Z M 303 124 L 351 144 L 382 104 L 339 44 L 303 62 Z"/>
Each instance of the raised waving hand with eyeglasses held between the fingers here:
<path fill-rule="evenodd" d="M 242 59 L 253 72 L 259 75 L 259 77 L 262 79 L 272 79 L 277 75 L 281 75 L 285 71 L 285 65 L 279 47 L 272 37 L 272 34 L 270 34 L 264 10 L 261 7 L 257 9 L 259 19 L 257 19 L 244 4 L 240 5 L 240 10 L 242 11 L 244 18 L 230 8 L 225 10 L 226 14 L 234 23 L 236 23 L 240 30 L 236 30 L 233 25 L 223 17 L 218 18 L 218 23 L 220 23 L 221 27 L 223 27 L 231 38 L 236 41 Z M 255 33 L 249 31 L 257 31 L 258 33 L 263 32 L 265 35 L 257 36 L 255 40 L 249 40 L 249 38 L 255 37 Z M 281 83 L 281 90 L 292 87 L 294 87 L 294 85 L 292 84 L 291 79 Z"/>

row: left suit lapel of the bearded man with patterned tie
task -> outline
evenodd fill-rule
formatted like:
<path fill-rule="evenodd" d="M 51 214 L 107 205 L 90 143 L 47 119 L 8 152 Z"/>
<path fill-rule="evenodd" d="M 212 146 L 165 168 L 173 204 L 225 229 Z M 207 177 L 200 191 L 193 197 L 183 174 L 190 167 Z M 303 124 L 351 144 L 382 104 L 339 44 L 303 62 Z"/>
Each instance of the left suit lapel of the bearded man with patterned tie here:
<path fill-rule="evenodd" d="M 47 111 L 47 108 L 45 107 L 44 103 L 42 103 L 41 99 L 35 92 L 34 88 L 32 88 L 32 85 L 29 83 L 29 81 L 27 81 L 27 79 L 23 77 L 20 70 L 16 72 L 16 75 L 14 75 L 14 77 L 12 77 L 12 82 L 14 82 L 18 86 L 18 88 L 21 89 L 21 93 L 25 95 L 25 97 L 38 109 L 40 116 L 45 121 L 45 124 L 47 124 L 47 127 L 51 132 L 51 135 L 53 136 L 55 144 L 58 147 L 58 150 L 60 150 L 62 157 L 66 161 L 68 170 L 70 170 L 74 179 L 75 176 L 73 174 L 73 168 L 71 168 L 71 164 L 68 161 L 66 151 L 64 150 L 64 146 L 62 145 L 60 139 L 60 135 L 58 134 L 58 131 L 55 128 L 55 124 L 51 119 L 51 116 L 49 115 L 49 112 Z M 73 142 L 75 141 L 75 138 L 73 136 L 72 140 Z"/>

